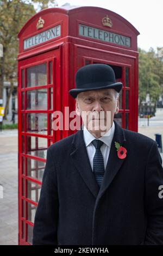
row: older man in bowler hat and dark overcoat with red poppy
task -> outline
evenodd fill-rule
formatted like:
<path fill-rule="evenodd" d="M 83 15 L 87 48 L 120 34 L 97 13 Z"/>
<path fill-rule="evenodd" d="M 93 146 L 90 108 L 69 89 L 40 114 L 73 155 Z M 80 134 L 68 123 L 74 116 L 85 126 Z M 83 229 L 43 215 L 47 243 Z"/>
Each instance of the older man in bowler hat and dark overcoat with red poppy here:
<path fill-rule="evenodd" d="M 121 89 L 109 65 L 77 71 L 84 126 L 48 148 L 33 245 L 163 245 L 162 160 L 155 141 L 113 120 Z"/>

